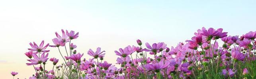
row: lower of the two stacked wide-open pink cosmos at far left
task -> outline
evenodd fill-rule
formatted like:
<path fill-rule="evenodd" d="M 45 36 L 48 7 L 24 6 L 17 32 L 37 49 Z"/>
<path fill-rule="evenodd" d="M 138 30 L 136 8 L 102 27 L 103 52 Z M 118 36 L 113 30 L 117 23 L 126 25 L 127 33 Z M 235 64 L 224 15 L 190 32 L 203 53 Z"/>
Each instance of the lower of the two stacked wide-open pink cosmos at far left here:
<path fill-rule="evenodd" d="M 48 60 L 48 53 L 46 55 L 43 53 L 40 58 L 35 53 L 33 53 L 32 56 L 34 59 L 28 60 L 31 63 L 26 63 L 27 66 L 41 64 L 42 62 L 46 62 Z"/>

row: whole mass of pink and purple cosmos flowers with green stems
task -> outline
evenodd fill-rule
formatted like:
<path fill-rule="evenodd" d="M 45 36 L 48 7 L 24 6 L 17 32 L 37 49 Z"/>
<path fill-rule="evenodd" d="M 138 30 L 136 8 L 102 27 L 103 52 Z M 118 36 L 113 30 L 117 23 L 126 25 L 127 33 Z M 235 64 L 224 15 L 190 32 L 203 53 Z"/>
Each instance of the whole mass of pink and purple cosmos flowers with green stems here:
<path fill-rule="evenodd" d="M 105 51 L 98 47 L 94 52 L 89 49 L 92 58 L 81 60 L 84 54 L 76 53 L 76 45 L 71 43 L 78 38 L 74 31 L 57 32 L 54 45 L 45 46 L 44 41 L 38 46 L 29 43 L 31 48 L 25 55 L 30 58 L 28 66 L 33 66 L 35 75 L 29 79 L 178 79 L 178 78 L 254 78 L 256 59 L 256 31 L 238 36 L 227 36 L 219 28 L 202 28 L 186 43 L 178 43 L 176 47 L 167 47 L 164 42 L 145 43 L 137 40 L 138 47 L 128 45 L 114 51 L 119 68 L 104 61 Z M 219 47 L 218 39 L 224 42 Z M 69 49 L 67 49 L 68 44 Z M 46 70 L 48 52 L 46 48 L 57 47 L 64 62 L 58 66 L 59 59 L 50 58 L 53 69 Z M 61 53 L 59 47 L 64 47 Z M 134 57 L 135 56 L 135 57 Z M 150 58 L 151 57 L 151 58 Z M 103 62 L 104 61 L 104 62 Z M 12 72 L 15 76 L 18 73 Z M 234 76 L 235 75 L 235 76 Z"/>

